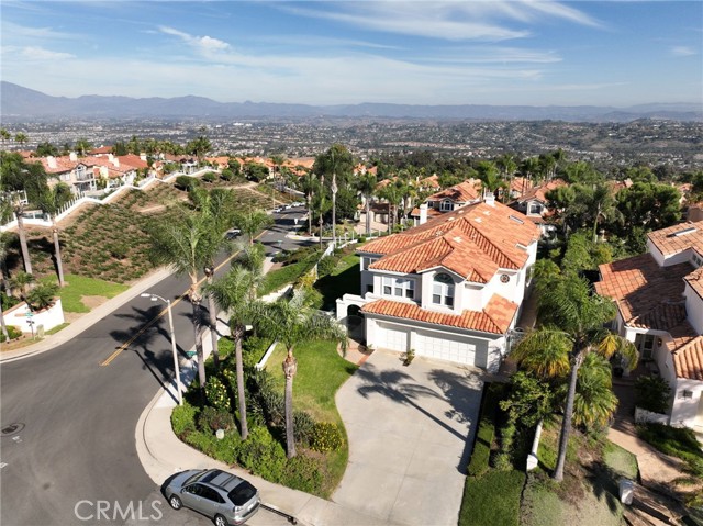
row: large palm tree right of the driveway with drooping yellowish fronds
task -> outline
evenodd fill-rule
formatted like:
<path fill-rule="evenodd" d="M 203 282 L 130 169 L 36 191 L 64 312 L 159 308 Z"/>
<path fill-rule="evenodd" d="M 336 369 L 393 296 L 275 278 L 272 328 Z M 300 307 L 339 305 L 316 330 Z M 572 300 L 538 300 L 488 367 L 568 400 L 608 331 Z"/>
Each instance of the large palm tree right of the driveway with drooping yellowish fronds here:
<path fill-rule="evenodd" d="M 629 367 L 637 365 L 637 349 L 603 324 L 615 317 L 614 304 L 592 294 L 589 283 L 576 273 L 545 273 L 537 282 L 538 307 L 542 325 L 528 333 L 515 347 L 513 356 L 518 362 L 536 370 L 543 362 L 543 373 L 566 371 L 569 361 L 569 382 L 566 407 L 559 437 L 559 455 L 553 478 L 563 480 L 567 444 L 571 432 L 577 380 L 581 365 L 590 352 L 605 358 L 620 354 Z M 547 365 L 548 362 L 548 365 Z"/>

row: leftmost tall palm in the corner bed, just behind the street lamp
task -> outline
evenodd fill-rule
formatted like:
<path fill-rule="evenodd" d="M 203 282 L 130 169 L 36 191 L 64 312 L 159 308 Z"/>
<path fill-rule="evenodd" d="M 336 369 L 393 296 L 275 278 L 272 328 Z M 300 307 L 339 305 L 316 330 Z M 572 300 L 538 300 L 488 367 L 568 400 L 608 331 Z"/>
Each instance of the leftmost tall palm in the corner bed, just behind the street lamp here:
<path fill-rule="evenodd" d="M 198 355 L 198 379 L 200 388 L 205 385 L 205 363 L 202 348 L 202 293 L 198 288 L 198 272 L 208 267 L 226 243 L 224 236 L 214 231 L 212 216 L 208 213 L 183 208 L 156 223 L 150 230 L 150 257 L 157 265 L 170 267 L 176 275 L 190 278 L 188 299 L 192 306 L 192 323 Z"/>

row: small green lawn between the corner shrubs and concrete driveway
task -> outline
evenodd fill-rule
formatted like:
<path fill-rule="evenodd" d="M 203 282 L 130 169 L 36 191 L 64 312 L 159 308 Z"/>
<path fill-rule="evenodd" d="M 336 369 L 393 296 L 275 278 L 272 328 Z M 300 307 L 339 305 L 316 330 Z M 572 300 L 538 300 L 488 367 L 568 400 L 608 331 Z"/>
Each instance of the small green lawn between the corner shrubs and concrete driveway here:
<path fill-rule="evenodd" d="M 293 381 L 293 407 L 306 411 L 317 422 L 337 424 L 346 441 L 346 430 L 334 403 L 334 395 L 358 367 L 342 358 L 337 354 L 336 344 L 330 342 L 304 342 L 299 344 L 293 352 L 298 358 L 298 373 Z M 279 344 L 266 365 L 280 385 L 281 392 L 286 382 L 281 368 L 284 358 L 286 348 Z M 327 491 L 332 491 L 342 481 L 349 449 L 345 444 L 338 451 L 327 455 Z"/>

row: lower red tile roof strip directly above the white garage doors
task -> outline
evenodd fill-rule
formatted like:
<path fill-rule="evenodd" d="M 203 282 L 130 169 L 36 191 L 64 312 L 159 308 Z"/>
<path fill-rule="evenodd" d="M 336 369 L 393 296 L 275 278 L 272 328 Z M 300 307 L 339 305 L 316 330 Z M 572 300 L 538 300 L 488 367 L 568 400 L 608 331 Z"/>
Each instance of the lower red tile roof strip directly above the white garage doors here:
<path fill-rule="evenodd" d="M 504 334 L 517 313 L 518 305 L 505 298 L 493 294 L 482 311 L 462 311 L 461 314 L 436 312 L 421 309 L 415 303 L 377 300 L 361 309 L 367 314 L 379 314 L 416 322 L 446 325 L 449 327 Z"/>

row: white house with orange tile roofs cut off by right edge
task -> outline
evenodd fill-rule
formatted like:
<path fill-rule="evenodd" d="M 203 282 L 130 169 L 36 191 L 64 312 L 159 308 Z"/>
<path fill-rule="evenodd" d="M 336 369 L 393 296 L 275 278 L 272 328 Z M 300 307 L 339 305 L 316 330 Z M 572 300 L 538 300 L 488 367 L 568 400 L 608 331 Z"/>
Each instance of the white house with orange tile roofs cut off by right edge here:
<path fill-rule="evenodd" d="M 647 247 L 601 265 L 595 289 L 617 304 L 618 334 L 671 385 L 669 423 L 703 433 L 703 221 L 652 232 Z"/>

